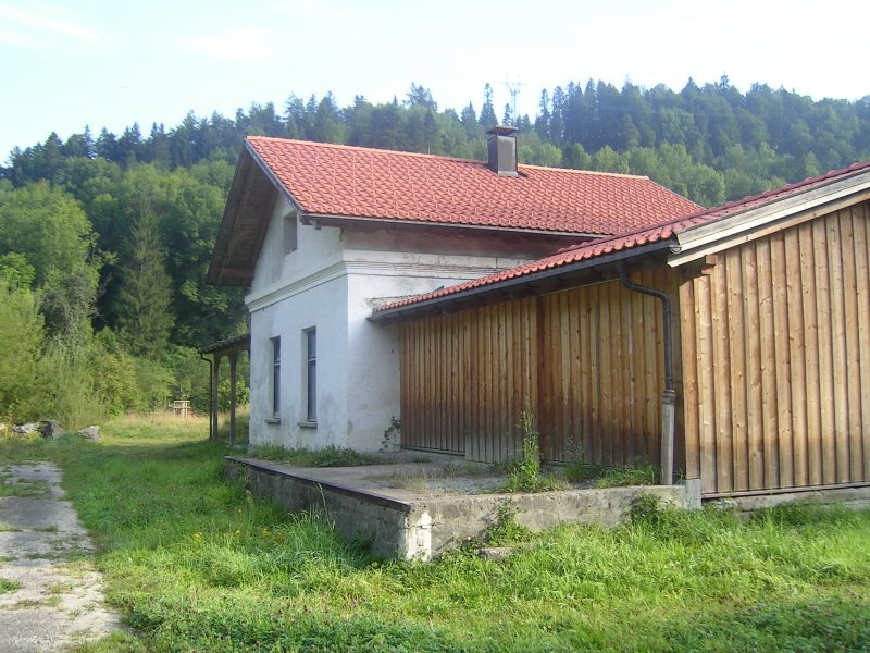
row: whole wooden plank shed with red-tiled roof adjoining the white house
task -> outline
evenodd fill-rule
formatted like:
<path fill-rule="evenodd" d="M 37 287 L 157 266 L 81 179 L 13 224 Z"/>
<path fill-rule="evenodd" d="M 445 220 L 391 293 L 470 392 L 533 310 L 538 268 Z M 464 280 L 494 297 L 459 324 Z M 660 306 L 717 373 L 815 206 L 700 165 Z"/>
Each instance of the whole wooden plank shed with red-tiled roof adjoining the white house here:
<path fill-rule="evenodd" d="M 548 460 L 658 463 L 667 299 L 679 475 L 870 484 L 869 198 L 856 164 L 376 311 L 401 323 L 402 446 L 510 459 L 529 402 Z"/>

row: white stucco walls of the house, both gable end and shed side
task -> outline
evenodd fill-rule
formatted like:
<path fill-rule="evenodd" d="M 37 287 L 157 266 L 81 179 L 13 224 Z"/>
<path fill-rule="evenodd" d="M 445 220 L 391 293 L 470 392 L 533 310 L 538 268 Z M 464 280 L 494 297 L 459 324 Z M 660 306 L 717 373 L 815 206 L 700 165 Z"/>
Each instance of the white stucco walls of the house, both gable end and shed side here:
<path fill-rule="evenodd" d="M 368 321 L 371 300 L 430 292 L 537 258 L 492 237 L 345 232 L 297 225 L 295 251 L 274 209 L 246 303 L 251 312 L 250 442 L 377 451 L 400 417 L 398 328 Z M 318 332 L 318 419 L 304 424 L 304 335 Z M 281 415 L 272 415 L 272 338 L 281 337 Z"/>

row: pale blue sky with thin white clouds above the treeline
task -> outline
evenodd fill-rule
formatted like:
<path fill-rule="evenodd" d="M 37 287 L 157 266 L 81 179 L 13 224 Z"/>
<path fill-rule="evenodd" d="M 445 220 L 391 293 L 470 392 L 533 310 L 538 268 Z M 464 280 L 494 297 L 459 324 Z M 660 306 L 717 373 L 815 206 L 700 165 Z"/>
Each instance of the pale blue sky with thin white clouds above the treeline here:
<path fill-rule="evenodd" d="M 863 1 L 0 0 L 0 160 L 89 124 L 174 127 L 192 110 L 232 116 L 290 94 L 405 97 L 442 109 L 506 79 L 521 113 L 540 89 L 589 77 L 681 89 L 726 73 L 816 99 L 870 95 Z"/>

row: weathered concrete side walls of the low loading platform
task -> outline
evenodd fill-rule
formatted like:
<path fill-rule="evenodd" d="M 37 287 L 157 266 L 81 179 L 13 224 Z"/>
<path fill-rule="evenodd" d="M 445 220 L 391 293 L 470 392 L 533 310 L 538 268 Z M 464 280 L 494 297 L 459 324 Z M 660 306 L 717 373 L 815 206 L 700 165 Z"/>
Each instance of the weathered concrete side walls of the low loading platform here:
<path fill-rule="evenodd" d="M 428 560 L 480 538 L 508 505 L 518 523 L 534 531 L 562 522 L 613 527 L 626 520 L 632 501 L 659 496 L 679 508 L 699 504 L 693 485 L 650 485 L 607 490 L 572 490 L 539 494 L 480 494 L 397 500 L 337 483 L 287 473 L 268 463 L 229 458 L 227 476 L 247 477 L 254 496 L 275 501 L 291 512 L 324 513 L 348 540 L 368 542 L 371 553 L 399 559 Z"/>

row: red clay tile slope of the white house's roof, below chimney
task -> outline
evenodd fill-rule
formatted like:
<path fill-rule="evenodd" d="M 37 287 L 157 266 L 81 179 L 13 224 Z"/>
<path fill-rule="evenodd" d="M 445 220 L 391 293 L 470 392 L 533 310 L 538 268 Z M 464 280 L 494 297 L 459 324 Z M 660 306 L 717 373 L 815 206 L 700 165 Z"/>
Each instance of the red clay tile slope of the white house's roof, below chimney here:
<path fill-rule="evenodd" d="M 485 162 L 281 138 L 249 148 L 312 215 L 613 234 L 698 206 L 647 177 Z"/>

